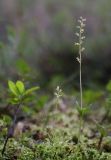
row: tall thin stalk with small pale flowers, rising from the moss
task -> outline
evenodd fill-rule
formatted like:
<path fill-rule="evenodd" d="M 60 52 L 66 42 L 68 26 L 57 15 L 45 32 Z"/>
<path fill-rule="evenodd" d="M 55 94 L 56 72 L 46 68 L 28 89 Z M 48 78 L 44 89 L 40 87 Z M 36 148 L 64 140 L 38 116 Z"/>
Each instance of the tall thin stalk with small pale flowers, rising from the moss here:
<path fill-rule="evenodd" d="M 84 27 L 85 27 L 85 21 L 83 17 L 80 17 L 78 20 L 79 25 L 77 26 L 78 32 L 76 33 L 76 36 L 78 37 L 78 42 L 75 43 L 76 46 L 78 46 L 78 53 L 79 56 L 76 58 L 79 62 L 79 87 L 80 87 L 80 105 L 78 106 L 78 113 L 80 116 L 80 129 L 79 129 L 79 136 L 81 132 L 83 131 L 83 116 L 87 112 L 87 108 L 83 107 L 83 91 L 82 91 L 82 53 L 85 50 L 83 47 L 83 42 L 85 39 L 84 36 Z"/>

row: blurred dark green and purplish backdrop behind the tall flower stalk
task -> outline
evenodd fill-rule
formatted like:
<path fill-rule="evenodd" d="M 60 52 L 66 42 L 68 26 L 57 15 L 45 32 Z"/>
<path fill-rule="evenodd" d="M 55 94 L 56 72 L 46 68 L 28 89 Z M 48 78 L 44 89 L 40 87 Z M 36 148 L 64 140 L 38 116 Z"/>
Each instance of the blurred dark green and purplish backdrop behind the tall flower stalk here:
<path fill-rule="evenodd" d="M 1 0 L 0 81 L 22 79 L 41 88 L 78 88 L 77 19 L 87 19 L 83 86 L 111 79 L 110 0 Z"/>

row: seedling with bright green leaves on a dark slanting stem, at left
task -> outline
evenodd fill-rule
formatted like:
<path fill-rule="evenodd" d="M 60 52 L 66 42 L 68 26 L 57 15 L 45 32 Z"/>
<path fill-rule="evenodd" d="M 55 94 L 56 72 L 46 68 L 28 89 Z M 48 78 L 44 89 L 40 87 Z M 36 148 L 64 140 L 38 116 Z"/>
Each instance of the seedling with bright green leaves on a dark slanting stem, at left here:
<path fill-rule="evenodd" d="M 6 140 L 3 146 L 2 155 L 5 152 L 5 148 L 6 148 L 9 138 L 13 137 L 14 128 L 15 128 L 16 121 L 17 121 L 17 114 L 19 112 L 20 107 L 23 106 L 23 104 L 27 102 L 32 92 L 39 89 L 38 86 L 32 87 L 30 89 L 25 89 L 24 83 L 21 81 L 17 81 L 16 83 L 12 81 L 8 81 L 8 87 L 9 87 L 9 91 L 11 95 L 9 103 L 15 105 L 16 110 L 15 110 L 13 122 L 11 126 L 8 128 L 8 133 L 7 133 Z"/>

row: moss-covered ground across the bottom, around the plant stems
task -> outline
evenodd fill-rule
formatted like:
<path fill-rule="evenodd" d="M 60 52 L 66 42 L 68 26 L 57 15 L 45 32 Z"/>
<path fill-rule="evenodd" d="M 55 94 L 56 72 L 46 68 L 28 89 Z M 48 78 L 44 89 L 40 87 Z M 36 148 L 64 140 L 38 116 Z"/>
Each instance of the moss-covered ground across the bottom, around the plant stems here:
<path fill-rule="evenodd" d="M 111 137 L 103 138 L 98 149 L 99 132 L 91 118 L 101 119 L 98 108 L 84 119 L 84 133 L 78 142 L 79 117 L 73 106 L 36 113 L 18 123 L 1 160 L 111 160 Z M 98 115 L 98 117 L 97 117 Z M 2 122 L 2 121 L 1 121 Z M 109 124 L 105 124 L 109 127 Z M 22 126 L 20 128 L 20 126 Z M 108 128 L 107 127 L 107 128 Z M 109 127 L 110 128 L 110 127 Z M 6 136 L 6 122 L 1 123 L 0 150 Z M 21 131 L 20 131 L 21 130 Z"/>

